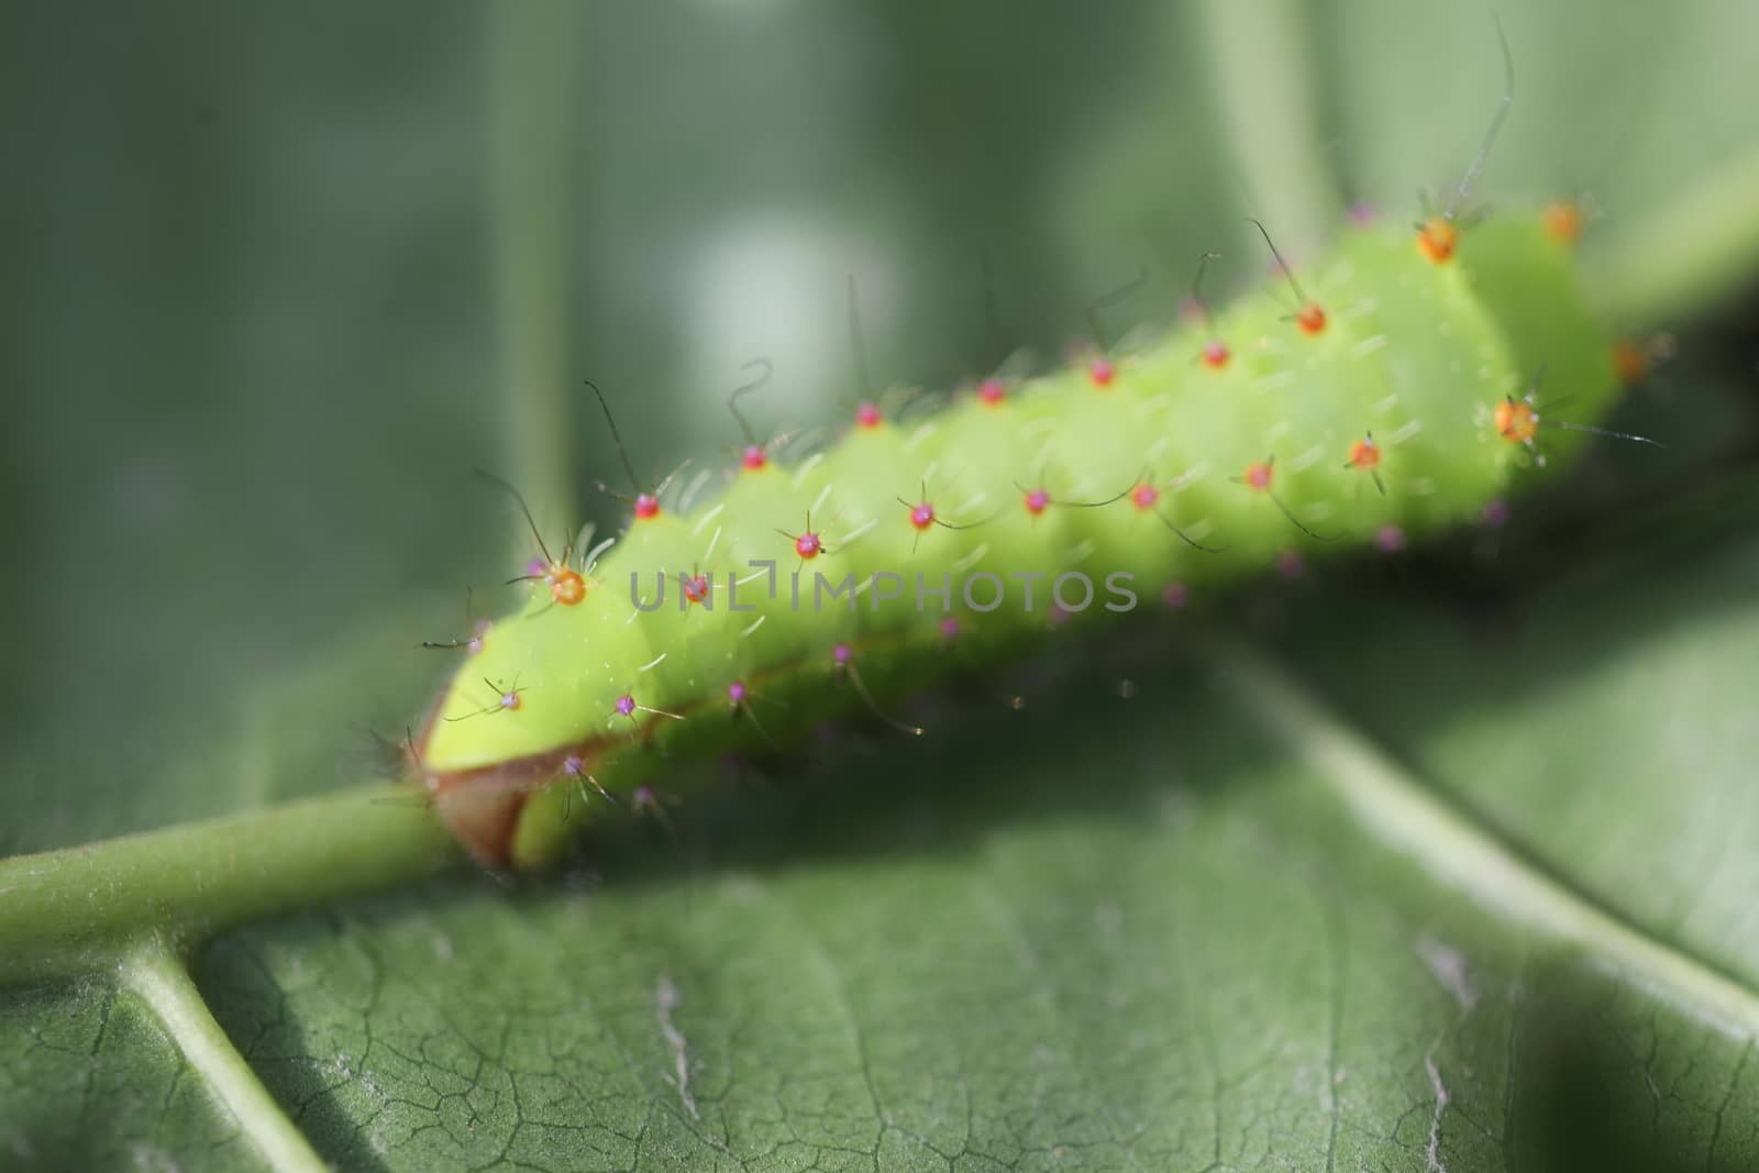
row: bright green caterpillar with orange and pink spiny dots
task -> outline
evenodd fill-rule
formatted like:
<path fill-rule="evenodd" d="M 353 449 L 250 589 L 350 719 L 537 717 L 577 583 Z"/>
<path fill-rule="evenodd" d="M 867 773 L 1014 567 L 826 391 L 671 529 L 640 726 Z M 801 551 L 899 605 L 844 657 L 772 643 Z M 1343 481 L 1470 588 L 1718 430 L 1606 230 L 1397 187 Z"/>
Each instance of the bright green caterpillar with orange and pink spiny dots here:
<path fill-rule="evenodd" d="M 1448 264 L 1409 227 L 1349 229 L 1300 281 L 1300 306 L 1326 308 L 1317 332 L 1277 278 L 1120 355 L 1106 394 L 1080 364 L 918 420 L 872 413 L 719 499 L 637 508 L 580 601 L 533 584 L 461 663 L 412 753 L 436 807 L 478 858 L 542 865 L 605 809 L 566 800 L 580 774 L 628 805 L 663 756 L 763 753 L 836 718 L 901 725 L 899 698 L 950 665 L 1105 616 L 1108 575 L 1184 605 L 1302 554 L 1397 549 L 1585 440 L 1509 440 L 1541 366 L 1571 420 L 1617 394 L 1571 251 L 1537 216 L 1460 230 Z M 1217 338 L 1230 361 L 1194 362 Z M 1096 591 L 1085 607 L 1071 573 Z M 712 580 L 712 608 L 631 598 L 631 577 L 651 596 L 681 575 Z"/>

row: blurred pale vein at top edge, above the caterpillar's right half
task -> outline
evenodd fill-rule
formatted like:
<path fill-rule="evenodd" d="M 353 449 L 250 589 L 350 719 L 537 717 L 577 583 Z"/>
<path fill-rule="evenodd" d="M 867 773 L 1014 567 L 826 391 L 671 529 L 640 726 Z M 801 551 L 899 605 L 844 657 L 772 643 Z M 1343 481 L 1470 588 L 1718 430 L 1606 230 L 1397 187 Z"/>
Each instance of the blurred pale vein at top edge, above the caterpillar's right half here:
<path fill-rule="evenodd" d="M 1319 248 L 1337 232 L 1344 208 L 1321 146 L 1303 5 L 1208 0 L 1201 23 L 1223 132 L 1247 200 L 1289 255 Z"/>

